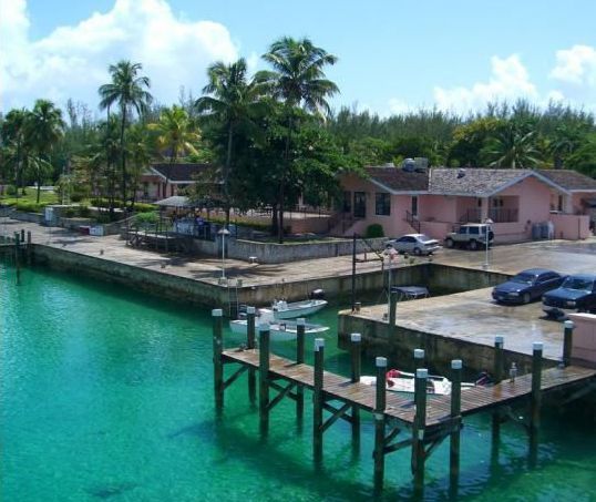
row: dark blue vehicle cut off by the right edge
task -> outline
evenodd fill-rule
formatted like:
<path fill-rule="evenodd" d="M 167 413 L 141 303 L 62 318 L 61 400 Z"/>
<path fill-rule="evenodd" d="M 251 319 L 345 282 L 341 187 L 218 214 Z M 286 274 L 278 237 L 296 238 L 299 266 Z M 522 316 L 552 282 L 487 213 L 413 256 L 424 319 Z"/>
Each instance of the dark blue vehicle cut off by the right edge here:
<path fill-rule="evenodd" d="M 559 288 L 542 297 L 542 309 L 548 317 L 562 318 L 574 311 L 596 311 L 596 275 L 575 274 Z"/>

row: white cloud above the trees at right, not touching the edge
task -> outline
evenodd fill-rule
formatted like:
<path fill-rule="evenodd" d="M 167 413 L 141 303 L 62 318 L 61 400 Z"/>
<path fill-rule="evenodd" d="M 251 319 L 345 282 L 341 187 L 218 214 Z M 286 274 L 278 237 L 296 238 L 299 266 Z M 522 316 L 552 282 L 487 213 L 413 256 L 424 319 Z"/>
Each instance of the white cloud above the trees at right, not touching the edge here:
<path fill-rule="evenodd" d="M 492 75 L 489 82 L 476 82 L 471 88 L 434 88 L 434 101 L 441 110 L 459 113 L 483 110 L 489 102 L 538 99 L 536 86 L 531 82 L 526 68 L 517 54 L 501 59 L 491 58 Z"/>

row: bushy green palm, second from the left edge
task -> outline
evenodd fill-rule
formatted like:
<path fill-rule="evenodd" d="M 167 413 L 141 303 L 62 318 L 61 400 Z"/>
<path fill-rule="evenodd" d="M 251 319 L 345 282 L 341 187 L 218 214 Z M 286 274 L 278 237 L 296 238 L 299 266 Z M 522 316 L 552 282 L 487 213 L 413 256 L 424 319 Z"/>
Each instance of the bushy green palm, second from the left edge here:
<path fill-rule="evenodd" d="M 27 121 L 27 130 L 38 161 L 34 163 L 35 181 L 38 183 L 37 202 L 39 204 L 42 176 L 50 168 L 50 153 L 64 134 L 65 123 L 62 111 L 48 100 L 38 100 Z"/>

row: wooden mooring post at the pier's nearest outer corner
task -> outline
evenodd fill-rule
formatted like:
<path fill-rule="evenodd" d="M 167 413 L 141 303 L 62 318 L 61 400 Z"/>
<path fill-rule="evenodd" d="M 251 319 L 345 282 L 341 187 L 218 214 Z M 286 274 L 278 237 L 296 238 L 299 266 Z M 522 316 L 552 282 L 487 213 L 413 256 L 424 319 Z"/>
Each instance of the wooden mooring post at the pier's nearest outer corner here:
<path fill-rule="evenodd" d="M 412 469 L 414 471 L 414 494 L 422 499 L 424 493 L 424 428 L 427 427 L 427 381 L 429 370 L 415 370 L 414 402 L 415 416 L 412 428 Z"/>

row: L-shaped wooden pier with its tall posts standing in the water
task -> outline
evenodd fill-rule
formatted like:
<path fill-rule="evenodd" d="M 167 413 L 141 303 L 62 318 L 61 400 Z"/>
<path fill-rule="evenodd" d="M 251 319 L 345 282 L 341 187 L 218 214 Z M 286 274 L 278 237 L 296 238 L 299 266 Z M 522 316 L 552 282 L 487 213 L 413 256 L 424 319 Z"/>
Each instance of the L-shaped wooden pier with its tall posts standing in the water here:
<path fill-rule="evenodd" d="M 224 392 L 244 372 L 248 372 L 248 395 L 257 399 L 260 431 L 266 434 L 269 413 L 284 398 L 296 401 L 296 414 L 304 414 L 304 391 L 312 391 L 312 448 L 314 460 L 320 462 L 323 454 L 323 433 L 337 420 L 351 424 L 352 440 L 360 441 L 360 412 L 374 418 L 374 490 L 380 492 L 384 478 L 384 458 L 388 453 L 411 447 L 411 468 L 414 492 L 422 496 L 424 490 L 424 462 L 439 444 L 450 438 L 450 492 L 456 494 L 460 473 L 460 431 L 463 418 L 491 411 L 493 416 L 493 441 L 499 441 L 501 423 L 512 420 L 524 427 L 530 438 L 530 458 L 535 459 L 541 424 L 542 397 L 549 392 L 565 392 L 563 402 L 596 391 L 596 369 L 571 365 L 573 322 L 565 322 L 562 363 L 557 368 L 542 369 L 543 345 L 533 344 L 532 372 L 517 376 L 508 370 L 503 379 L 503 337 L 494 345 L 494 383 L 472 387 L 462 391 L 460 359 L 451 362 L 451 396 L 432 396 L 427 392 L 428 370 L 422 368 L 424 351 L 414 351 L 415 390 L 413 396 L 387 391 L 387 359 L 376 359 L 377 383 L 374 387 L 360 382 L 361 336 L 351 335 L 352 370 L 349 378 L 325 371 L 325 340 L 315 339 L 315 366 L 305 360 L 305 320 L 298 319 L 296 360 L 269 352 L 268 327 L 259 327 L 259 345 L 256 348 L 255 309 L 247 310 L 246 346 L 224 350 L 222 310 L 213 310 L 214 390 L 217 410 L 224 406 Z M 236 365 L 236 370 L 225 378 L 224 366 Z M 271 399 L 270 391 L 277 391 Z M 527 402 L 527 419 L 513 413 L 512 404 Z M 330 414 L 325 416 L 323 411 Z"/>

